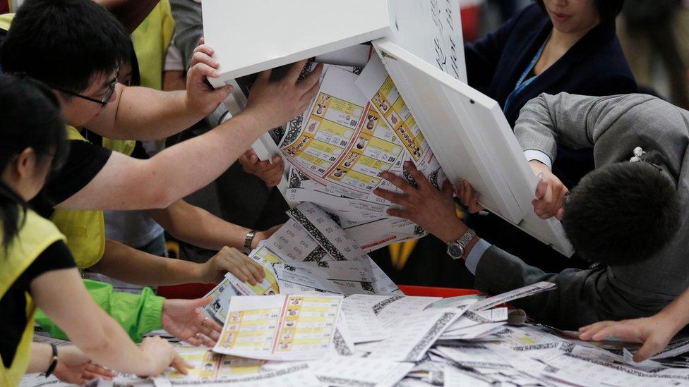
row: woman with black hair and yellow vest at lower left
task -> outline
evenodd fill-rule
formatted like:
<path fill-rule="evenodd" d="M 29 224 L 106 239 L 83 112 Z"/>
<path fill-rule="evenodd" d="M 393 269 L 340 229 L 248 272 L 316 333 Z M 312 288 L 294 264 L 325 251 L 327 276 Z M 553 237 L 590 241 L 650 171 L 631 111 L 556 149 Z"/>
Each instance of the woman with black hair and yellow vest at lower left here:
<path fill-rule="evenodd" d="M 171 364 L 186 373 L 189 365 L 167 341 L 146 338 L 138 348 L 93 302 L 64 235 L 28 207 L 68 152 L 54 94 L 36 82 L 2 75 L 0 107 L 0 384 L 18 386 L 25 372 L 55 372 L 77 383 L 96 374 L 113 376 L 89 367 L 90 360 L 126 374 L 157 375 Z M 76 347 L 32 343 L 37 307 Z"/>

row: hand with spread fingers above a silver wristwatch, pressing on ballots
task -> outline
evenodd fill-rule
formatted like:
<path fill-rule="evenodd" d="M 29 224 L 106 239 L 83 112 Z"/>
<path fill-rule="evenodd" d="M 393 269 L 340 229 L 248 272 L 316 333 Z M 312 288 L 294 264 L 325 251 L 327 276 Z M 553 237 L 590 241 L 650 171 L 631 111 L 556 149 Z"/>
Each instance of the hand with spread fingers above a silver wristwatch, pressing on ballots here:
<path fill-rule="evenodd" d="M 385 172 L 383 178 L 404 193 L 398 194 L 380 188 L 373 191 L 383 199 L 402 206 L 400 209 L 388 209 L 388 215 L 409 219 L 445 242 L 461 238 L 467 231 L 467 226 L 457 218 L 450 182 L 445 181 L 443 190 L 439 191 L 414 164 L 405 163 L 405 169 L 416 180 L 418 188 L 412 187 L 407 180 L 393 173 Z"/>

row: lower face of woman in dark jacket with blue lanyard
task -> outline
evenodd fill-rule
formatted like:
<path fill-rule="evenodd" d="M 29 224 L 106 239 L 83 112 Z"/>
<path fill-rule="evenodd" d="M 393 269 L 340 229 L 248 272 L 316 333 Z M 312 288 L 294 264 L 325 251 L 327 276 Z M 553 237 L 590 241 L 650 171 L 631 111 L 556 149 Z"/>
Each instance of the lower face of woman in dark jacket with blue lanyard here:
<path fill-rule="evenodd" d="M 595 0 L 544 0 L 553 27 L 565 34 L 586 32 L 600 21 Z"/>

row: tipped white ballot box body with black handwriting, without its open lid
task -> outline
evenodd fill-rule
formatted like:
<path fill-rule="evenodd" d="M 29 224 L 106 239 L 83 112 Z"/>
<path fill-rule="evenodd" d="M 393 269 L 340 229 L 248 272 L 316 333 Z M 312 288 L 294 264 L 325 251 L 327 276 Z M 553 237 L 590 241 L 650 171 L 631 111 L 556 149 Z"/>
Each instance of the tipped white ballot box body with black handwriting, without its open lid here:
<path fill-rule="evenodd" d="M 205 42 L 220 62 L 213 86 L 386 37 L 466 80 L 459 0 L 203 1 Z"/>

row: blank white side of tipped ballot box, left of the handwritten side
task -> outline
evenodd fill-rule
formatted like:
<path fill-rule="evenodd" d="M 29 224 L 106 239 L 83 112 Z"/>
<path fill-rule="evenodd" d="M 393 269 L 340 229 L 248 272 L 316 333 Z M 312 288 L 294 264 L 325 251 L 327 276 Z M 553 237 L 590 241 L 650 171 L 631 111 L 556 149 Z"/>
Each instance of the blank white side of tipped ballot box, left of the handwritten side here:
<path fill-rule="evenodd" d="M 387 34 L 387 0 L 203 1 L 220 80 L 258 73 Z"/>

